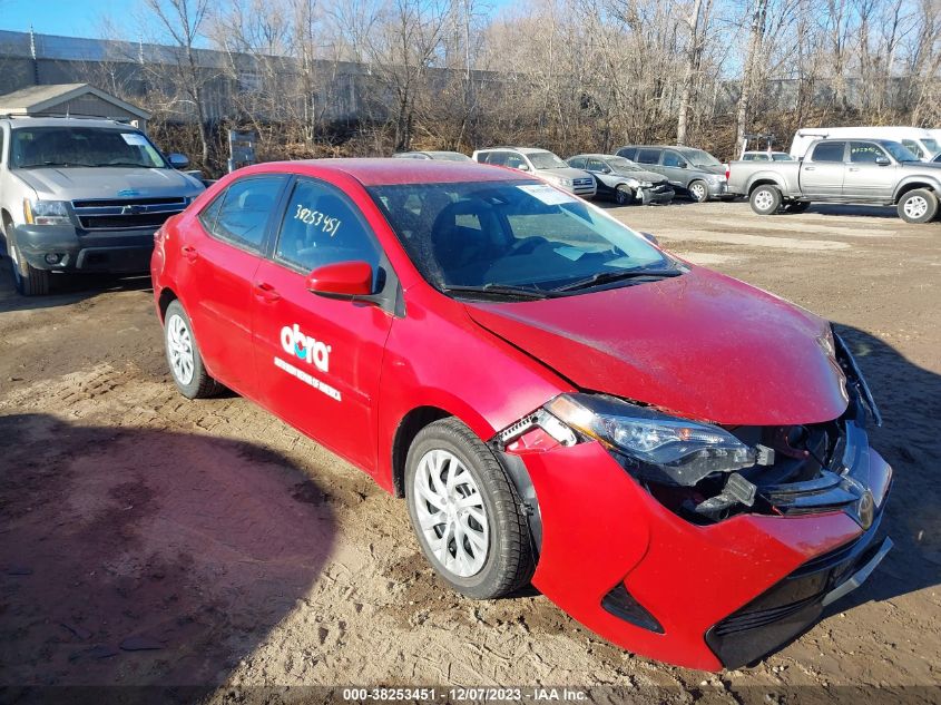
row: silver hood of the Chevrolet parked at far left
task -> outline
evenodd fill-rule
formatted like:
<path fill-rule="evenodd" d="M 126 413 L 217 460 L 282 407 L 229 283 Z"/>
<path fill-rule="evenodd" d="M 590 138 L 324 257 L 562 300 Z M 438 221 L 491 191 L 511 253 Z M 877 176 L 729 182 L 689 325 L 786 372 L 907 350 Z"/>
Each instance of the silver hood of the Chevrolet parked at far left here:
<path fill-rule="evenodd" d="M 203 190 L 195 178 L 175 169 L 49 167 L 17 169 L 16 175 L 39 198 L 55 200 L 195 196 Z"/>

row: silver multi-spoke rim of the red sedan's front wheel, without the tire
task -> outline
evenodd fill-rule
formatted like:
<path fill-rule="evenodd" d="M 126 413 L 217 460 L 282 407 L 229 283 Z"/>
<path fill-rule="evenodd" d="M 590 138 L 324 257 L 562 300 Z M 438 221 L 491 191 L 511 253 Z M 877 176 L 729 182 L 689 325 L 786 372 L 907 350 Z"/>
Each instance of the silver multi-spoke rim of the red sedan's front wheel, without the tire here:
<path fill-rule="evenodd" d="M 490 523 L 480 488 L 463 462 L 447 450 L 419 460 L 414 483 L 420 531 L 434 559 L 469 578 L 487 562 Z"/>

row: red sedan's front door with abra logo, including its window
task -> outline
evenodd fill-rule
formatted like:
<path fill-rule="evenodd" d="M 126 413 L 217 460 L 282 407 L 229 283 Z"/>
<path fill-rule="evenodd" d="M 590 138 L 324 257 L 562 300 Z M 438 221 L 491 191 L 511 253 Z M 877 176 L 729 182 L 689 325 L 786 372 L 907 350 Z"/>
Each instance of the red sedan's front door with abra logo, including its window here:
<path fill-rule="evenodd" d="M 364 261 L 374 288 L 398 280 L 356 205 L 335 186 L 298 177 L 272 257 L 255 274 L 255 359 L 262 403 L 317 442 L 372 470 L 375 411 L 390 306 L 327 298 L 306 288 L 312 270 Z M 392 296 L 394 301 L 394 295 Z"/>

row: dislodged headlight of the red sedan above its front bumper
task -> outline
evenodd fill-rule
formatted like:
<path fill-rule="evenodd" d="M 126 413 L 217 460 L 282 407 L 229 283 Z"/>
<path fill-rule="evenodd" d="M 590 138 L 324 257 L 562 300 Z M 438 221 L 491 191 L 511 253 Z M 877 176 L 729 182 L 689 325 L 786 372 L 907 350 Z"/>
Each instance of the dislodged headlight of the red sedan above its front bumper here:
<path fill-rule="evenodd" d="M 638 478 L 690 487 L 713 472 L 757 462 L 757 451 L 725 429 L 602 394 L 561 394 L 545 407 L 574 431 L 604 443 Z"/>

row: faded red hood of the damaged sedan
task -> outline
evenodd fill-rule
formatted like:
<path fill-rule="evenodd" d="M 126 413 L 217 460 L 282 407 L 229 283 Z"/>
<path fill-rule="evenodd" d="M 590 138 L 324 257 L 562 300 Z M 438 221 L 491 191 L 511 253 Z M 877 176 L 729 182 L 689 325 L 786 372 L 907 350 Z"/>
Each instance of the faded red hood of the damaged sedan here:
<path fill-rule="evenodd" d="M 465 305 L 478 324 L 586 391 L 727 425 L 814 423 L 846 409 L 829 323 L 708 270 Z"/>

